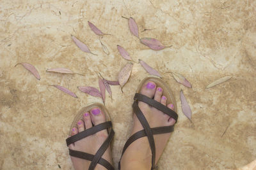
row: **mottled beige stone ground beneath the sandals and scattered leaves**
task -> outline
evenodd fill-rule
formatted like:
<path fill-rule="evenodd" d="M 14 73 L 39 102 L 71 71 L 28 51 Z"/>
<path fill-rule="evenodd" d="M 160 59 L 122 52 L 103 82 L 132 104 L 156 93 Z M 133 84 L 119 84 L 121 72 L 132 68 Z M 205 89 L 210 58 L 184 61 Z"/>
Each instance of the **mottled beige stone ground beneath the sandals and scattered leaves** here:
<path fill-rule="evenodd" d="M 100 72 L 116 80 L 127 63 L 116 45 L 134 60 L 143 59 L 164 75 L 177 100 L 175 126 L 159 169 L 236 169 L 256 159 L 256 1 L 0 1 L 0 169 L 73 169 L 65 138 L 83 106 L 96 101 L 77 86 L 98 87 Z M 141 37 L 157 38 L 160 51 L 141 45 L 129 32 L 133 17 Z M 110 52 L 106 55 L 90 20 L 102 32 Z M 152 29 L 151 31 L 143 31 Z M 97 55 L 84 53 L 72 42 L 74 35 Z M 38 69 L 41 80 L 19 62 Z M 86 76 L 47 73 L 67 67 Z M 180 73 L 192 89 L 177 83 L 169 73 Z M 117 166 L 132 124 L 132 97 L 147 76 L 139 64 L 124 87 L 111 87 L 108 108 L 116 132 L 112 146 Z M 205 87 L 223 76 L 232 79 L 211 89 Z M 68 96 L 49 85 L 76 92 Z M 180 108 L 179 92 L 193 111 L 192 122 Z"/>

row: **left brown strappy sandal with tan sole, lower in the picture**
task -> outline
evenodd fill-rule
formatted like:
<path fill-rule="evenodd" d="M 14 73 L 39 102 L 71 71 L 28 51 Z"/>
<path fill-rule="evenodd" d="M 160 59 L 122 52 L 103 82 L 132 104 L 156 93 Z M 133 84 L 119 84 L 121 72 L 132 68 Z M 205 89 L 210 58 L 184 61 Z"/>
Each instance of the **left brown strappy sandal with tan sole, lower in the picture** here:
<path fill-rule="evenodd" d="M 69 150 L 69 155 L 72 156 L 72 157 L 77 157 L 77 158 L 92 161 L 88 170 L 95 169 L 97 164 L 100 164 L 100 165 L 106 167 L 106 169 L 108 169 L 108 170 L 115 170 L 114 167 L 106 159 L 102 158 L 102 155 L 107 150 L 107 148 L 110 145 L 110 143 L 111 143 L 111 141 L 114 137 L 114 134 L 115 134 L 115 132 L 112 129 L 112 123 L 111 123 L 111 121 L 109 121 L 110 117 L 109 117 L 109 114 L 108 114 L 108 110 L 105 108 L 105 106 L 103 106 L 100 103 L 94 103 L 94 104 L 90 104 L 89 106 L 86 106 L 81 111 L 79 111 L 79 113 L 74 118 L 74 121 L 71 125 L 69 134 L 71 135 L 73 127 L 77 127 L 76 123 L 78 122 L 78 120 L 83 120 L 83 113 L 88 112 L 88 111 L 92 110 L 92 108 L 95 108 L 95 107 L 99 107 L 100 110 L 102 110 L 106 114 L 106 120 L 107 121 L 102 123 L 102 124 L 95 125 L 95 126 L 89 128 L 89 129 L 86 129 L 83 132 L 79 132 L 79 133 L 75 134 L 74 136 L 71 136 L 70 138 L 67 138 L 66 139 L 67 146 L 70 145 L 71 143 L 79 141 L 80 139 L 86 138 L 87 136 L 95 134 L 95 133 L 97 133 L 99 131 L 102 131 L 104 129 L 108 130 L 108 138 L 106 139 L 106 141 L 104 141 L 104 143 L 102 143 L 102 145 L 100 146 L 99 150 L 95 153 L 95 155 L 92 155 L 90 153 L 80 152 L 80 151 L 77 151 L 77 150 L 68 149 Z"/>

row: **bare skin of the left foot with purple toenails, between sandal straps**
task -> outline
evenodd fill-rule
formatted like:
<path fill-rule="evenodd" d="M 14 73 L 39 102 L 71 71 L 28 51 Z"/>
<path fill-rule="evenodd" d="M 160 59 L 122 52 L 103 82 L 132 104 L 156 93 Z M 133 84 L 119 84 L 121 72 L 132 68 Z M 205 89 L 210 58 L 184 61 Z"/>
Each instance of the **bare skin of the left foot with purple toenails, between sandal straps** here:
<path fill-rule="evenodd" d="M 79 120 L 77 122 L 78 129 L 74 127 L 72 129 L 72 136 L 77 134 L 78 132 L 82 132 L 85 129 L 89 129 L 93 125 L 98 125 L 103 122 L 106 122 L 106 116 L 99 108 L 93 108 L 90 113 L 84 113 L 83 120 Z M 79 141 L 76 141 L 75 143 L 72 143 L 68 146 L 71 150 L 78 150 L 81 152 L 91 153 L 95 155 L 97 150 L 99 150 L 100 146 L 104 141 L 108 138 L 108 131 L 106 129 L 99 131 L 91 136 L 88 136 L 86 138 L 83 138 Z M 108 160 L 109 163 L 112 163 L 111 158 L 111 151 L 110 146 L 106 150 L 106 152 L 102 155 L 103 159 Z M 73 166 L 76 170 L 84 170 L 88 169 L 90 166 L 89 160 L 80 159 L 77 157 L 71 157 Z M 105 167 L 101 166 L 100 164 L 97 164 L 95 169 L 106 169 Z"/>

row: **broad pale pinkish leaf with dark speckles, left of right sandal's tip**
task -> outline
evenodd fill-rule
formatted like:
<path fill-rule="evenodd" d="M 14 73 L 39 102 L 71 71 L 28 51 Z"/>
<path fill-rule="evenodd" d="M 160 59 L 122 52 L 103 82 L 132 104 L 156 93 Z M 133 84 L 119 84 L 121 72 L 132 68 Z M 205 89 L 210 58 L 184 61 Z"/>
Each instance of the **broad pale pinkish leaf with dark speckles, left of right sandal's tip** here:
<path fill-rule="evenodd" d="M 127 63 L 118 74 L 118 82 L 121 86 L 121 90 L 124 87 L 125 83 L 129 80 L 129 77 L 132 73 L 132 62 Z"/>

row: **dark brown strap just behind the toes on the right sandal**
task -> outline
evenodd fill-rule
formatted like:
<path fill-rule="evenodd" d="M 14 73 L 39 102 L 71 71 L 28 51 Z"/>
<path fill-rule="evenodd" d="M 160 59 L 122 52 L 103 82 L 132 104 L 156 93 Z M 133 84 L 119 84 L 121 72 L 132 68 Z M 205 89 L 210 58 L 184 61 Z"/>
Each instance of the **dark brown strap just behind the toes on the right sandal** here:
<path fill-rule="evenodd" d="M 163 113 L 169 115 L 170 117 L 174 118 L 177 122 L 178 114 L 171 110 L 170 108 L 164 106 L 163 104 L 155 101 L 154 99 L 151 99 L 150 97 L 147 97 L 143 94 L 136 93 L 134 96 L 134 101 L 142 101 L 144 103 L 149 104 L 150 106 L 153 106 L 154 108 L 157 108 L 157 110 L 163 111 Z"/>

